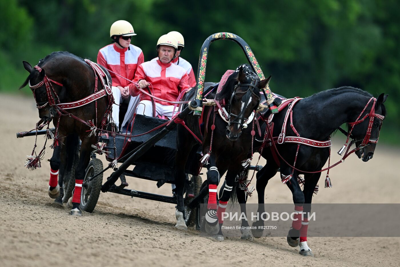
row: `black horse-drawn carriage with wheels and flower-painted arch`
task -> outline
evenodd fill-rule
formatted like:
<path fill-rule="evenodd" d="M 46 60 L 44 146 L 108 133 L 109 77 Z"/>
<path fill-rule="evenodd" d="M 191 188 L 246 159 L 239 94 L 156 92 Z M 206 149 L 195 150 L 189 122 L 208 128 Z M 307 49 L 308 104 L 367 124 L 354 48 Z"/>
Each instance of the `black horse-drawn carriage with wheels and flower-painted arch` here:
<path fill-rule="evenodd" d="M 204 86 L 206 62 L 208 57 L 208 49 L 211 42 L 215 40 L 233 40 L 239 44 L 252 69 L 260 78 L 264 75 L 256 61 L 248 44 L 236 34 L 228 32 L 220 32 L 210 35 L 204 42 L 200 51 L 197 84 L 196 84 L 196 100 L 190 101 L 188 107 L 183 109 L 178 117 L 183 119 L 189 113 L 200 116 L 202 106 L 202 93 Z M 213 84 L 216 88 L 217 84 Z M 263 91 L 265 97 L 270 94 L 269 89 Z M 270 95 L 268 95 L 270 97 Z M 273 103 L 271 103 L 273 105 Z M 190 115 L 191 115 L 190 114 Z M 118 161 L 119 167 L 109 164 L 107 168 L 103 167 L 100 159 L 96 158 L 96 154 L 91 155 L 91 160 L 86 167 L 84 181 L 82 183 L 82 192 L 80 198 L 80 209 L 92 212 L 98 201 L 100 191 L 113 192 L 131 197 L 145 198 L 160 202 L 176 204 L 176 196 L 164 196 L 149 192 L 140 192 L 134 189 L 128 189 L 126 176 L 136 177 L 145 180 L 152 180 L 160 187 L 163 184 L 174 184 L 174 155 L 176 153 L 176 122 L 174 120 L 167 121 L 157 117 L 147 117 L 144 115 L 135 115 L 134 121 L 130 123 L 129 130 L 123 135 L 112 132 L 99 132 L 97 148 L 99 154 L 105 154 L 106 160 L 109 162 Z M 54 129 L 52 129 L 54 131 Z M 17 138 L 24 136 L 34 136 L 46 134 L 46 130 L 29 131 L 17 133 Z M 93 148 L 96 146 L 93 146 Z M 190 152 L 188 163 L 185 166 L 186 182 L 184 186 L 184 205 L 186 211 L 185 222 L 191 225 L 196 222 L 196 228 L 200 229 L 204 220 L 199 218 L 199 204 L 206 203 L 208 196 L 207 181 L 202 181 L 200 176 L 202 164 L 201 146 L 194 146 Z M 131 168 L 133 166 L 133 168 Z M 74 170 L 76 166 L 72 166 Z M 103 184 L 103 173 L 109 168 L 113 168 L 114 172 L 107 178 Z M 260 170 L 262 166 L 249 166 L 247 170 Z M 75 186 L 74 171 L 63 177 L 64 197 L 62 202 L 66 203 L 72 195 Z M 120 184 L 116 185 L 117 180 Z M 60 200 L 58 200 L 60 201 Z"/>

